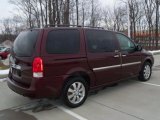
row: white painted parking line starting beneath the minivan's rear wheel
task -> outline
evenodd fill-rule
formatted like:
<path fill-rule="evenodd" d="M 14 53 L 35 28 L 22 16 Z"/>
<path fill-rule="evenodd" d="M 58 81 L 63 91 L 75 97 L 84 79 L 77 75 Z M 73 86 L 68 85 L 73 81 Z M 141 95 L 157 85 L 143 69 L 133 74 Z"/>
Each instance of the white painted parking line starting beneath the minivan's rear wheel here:
<path fill-rule="evenodd" d="M 78 115 L 77 113 L 74 113 L 74 112 L 72 112 L 72 111 L 70 111 L 70 110 L 68 110 L 68 109 L 66 109 L 66 108 L 64 108 L 64 107 L 62 107 L 62 106 L 57 106 L 57 107 L 58 107 L 60 110 L 62 110 L 63 112 L 65 112 L 65 113 L 67 113 L 67 114 L 69 114 L 69 115 L 71 115 L 71 116 L 73 116 L 73 117 L 75 117 L 75 118 L 77 118 L 77 119 L 79 119 L 79 120 L 88 120 L 88 119 L 86 119 L 86 118 Z"/>

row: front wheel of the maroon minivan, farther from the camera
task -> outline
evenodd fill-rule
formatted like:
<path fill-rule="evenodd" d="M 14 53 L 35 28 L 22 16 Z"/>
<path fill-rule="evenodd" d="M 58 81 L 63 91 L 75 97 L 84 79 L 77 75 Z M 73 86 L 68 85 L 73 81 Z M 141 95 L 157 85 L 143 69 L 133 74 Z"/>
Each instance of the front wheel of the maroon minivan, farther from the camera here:
<path fill-rule="evenodd" d="M 145 62 L 138 78 L 140 81 L 145 82 L 150 79 L 151 74 L 152 74 L 152 66 L 149 62 Z"/>

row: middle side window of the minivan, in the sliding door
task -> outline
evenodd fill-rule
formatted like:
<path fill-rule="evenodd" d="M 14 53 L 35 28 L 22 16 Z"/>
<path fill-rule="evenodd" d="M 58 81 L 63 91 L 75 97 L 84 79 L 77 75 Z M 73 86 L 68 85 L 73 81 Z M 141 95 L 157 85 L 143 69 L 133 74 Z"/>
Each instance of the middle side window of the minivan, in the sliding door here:
<path fill-rule="evenodd" d="M 113 52 L 114 35 L 108 31 L 86 30 L 88 51 L 92 53 Z"/>

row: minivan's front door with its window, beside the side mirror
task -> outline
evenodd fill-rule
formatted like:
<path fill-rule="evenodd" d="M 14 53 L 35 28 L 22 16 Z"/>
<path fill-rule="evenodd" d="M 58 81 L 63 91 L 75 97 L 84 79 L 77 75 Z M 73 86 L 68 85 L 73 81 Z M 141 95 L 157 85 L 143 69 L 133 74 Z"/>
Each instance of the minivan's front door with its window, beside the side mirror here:
<path fill-rule="evenodd" d="M 127 78 L 137 75 L 140 71 L 141 52 L 136 50 L 136 46 L 127 36 L 116 33 L 122 58 L 122 76 Z"/>

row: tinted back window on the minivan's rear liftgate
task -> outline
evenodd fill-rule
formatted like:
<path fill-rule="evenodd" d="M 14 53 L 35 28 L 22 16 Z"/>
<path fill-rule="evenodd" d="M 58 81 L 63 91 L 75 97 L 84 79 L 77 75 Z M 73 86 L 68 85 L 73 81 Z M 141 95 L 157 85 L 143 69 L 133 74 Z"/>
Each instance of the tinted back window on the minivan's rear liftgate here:
<path fill-rule="evenodd" d="M 14 53 L 19 57 L 32 56 L 35 49 L 37 36 L 37 30 L 21 32 L 13 44 Z"/>

